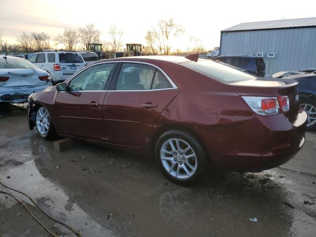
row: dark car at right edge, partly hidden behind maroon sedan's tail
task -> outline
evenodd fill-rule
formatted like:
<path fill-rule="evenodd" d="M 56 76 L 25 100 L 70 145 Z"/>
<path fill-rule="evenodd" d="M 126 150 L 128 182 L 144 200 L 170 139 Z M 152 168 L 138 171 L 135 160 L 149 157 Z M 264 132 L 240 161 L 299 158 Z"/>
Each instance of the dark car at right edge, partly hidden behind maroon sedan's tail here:
<path fill-rule="evenodd" d="M 305 73 L 289 76 L 284 79 L 299 81 L 298 91 L 301 109 L 307 113 L 307 130 L 316 130 L 316 73 Z"/>

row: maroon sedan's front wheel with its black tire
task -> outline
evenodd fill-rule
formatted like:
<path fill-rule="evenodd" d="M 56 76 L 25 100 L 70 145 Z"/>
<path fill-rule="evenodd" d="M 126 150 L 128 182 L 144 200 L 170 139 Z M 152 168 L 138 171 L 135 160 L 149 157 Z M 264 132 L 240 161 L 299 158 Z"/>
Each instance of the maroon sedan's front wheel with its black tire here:
<path fill-rule="evenodd" d="M 40 106 L 36 112 L 36 129 L 38 130 L 40 137 L 45 140 L 57 137 L 49 111 L 43 106 Z"/>

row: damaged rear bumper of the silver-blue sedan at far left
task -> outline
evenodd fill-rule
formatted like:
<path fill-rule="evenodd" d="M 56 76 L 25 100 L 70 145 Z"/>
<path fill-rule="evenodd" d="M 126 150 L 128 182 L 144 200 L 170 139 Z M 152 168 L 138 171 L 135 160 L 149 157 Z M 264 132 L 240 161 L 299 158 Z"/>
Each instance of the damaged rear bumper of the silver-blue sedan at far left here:
<path fill-rule="evenodd" d="M 50 82 L 40 86 L 0 86 L 0 102 L 24 103 L 28 101 L 30 94 L 40 92 L 51 86 Z"/>

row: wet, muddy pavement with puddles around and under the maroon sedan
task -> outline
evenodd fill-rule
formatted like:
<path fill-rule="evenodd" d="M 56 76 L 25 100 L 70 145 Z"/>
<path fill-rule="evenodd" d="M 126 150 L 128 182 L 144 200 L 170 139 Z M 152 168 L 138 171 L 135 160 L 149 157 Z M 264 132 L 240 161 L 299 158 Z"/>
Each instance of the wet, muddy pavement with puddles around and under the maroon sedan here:
<path fill-rule="evenodd" d="M 181 187 L 150 158 L 80 142 L 54 151 L 51 141 L 28 130 L 23 106 L 2 106 L 0 179 L 83 237 L 315 237 L 316 133 L 306 138 L 301 152 L 280 167 L 213 171 L 197 185 Z M 58 236 L 75 236 L 31 209 Z M 0 194 L 0 237 L 18 236 L 48 234 Z"/>

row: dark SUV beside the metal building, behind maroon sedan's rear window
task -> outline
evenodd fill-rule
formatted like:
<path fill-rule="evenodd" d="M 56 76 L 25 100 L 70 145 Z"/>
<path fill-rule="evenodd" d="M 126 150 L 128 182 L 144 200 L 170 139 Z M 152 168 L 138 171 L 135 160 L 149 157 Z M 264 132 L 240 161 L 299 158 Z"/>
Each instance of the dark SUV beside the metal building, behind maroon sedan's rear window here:
<path fill-rule="evenodd" d="M 212 60 L 235 66 L 257 77 L 265 76 L 266 64 L 263 57 L 252 55 L 221 55 L 212 58 Z"/>

